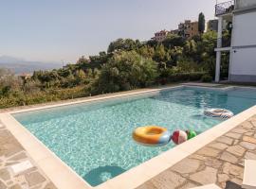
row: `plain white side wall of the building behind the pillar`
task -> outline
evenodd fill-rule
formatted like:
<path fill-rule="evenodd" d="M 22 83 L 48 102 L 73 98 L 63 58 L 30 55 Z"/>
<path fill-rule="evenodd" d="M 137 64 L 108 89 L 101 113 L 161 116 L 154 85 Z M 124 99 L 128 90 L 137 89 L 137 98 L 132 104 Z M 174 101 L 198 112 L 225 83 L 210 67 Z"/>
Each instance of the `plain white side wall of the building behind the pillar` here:
<path fill-rule="evenodd" d="M 235 13 L 230 53 L 229 79 L 256 82 L 256 10 Z"/>

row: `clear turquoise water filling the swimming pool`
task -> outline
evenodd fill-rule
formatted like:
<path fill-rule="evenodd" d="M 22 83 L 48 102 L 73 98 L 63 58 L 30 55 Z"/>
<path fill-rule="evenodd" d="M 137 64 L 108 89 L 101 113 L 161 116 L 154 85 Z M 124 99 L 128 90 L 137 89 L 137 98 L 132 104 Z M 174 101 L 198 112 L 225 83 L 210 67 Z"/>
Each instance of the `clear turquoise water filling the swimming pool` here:
<path fill-rule="evenodd" d="M 14 117 L 84 180 L 96 186 L 174 146 L 139 146 L 132 132 L 157 125 L 171 131 L 203 132 L 220 120 L 202 115 L 206 108 L 229 109 L 235 114 L 256 104 L 256 90 L 228 92 L 184 88 L 77 104 Z"/>

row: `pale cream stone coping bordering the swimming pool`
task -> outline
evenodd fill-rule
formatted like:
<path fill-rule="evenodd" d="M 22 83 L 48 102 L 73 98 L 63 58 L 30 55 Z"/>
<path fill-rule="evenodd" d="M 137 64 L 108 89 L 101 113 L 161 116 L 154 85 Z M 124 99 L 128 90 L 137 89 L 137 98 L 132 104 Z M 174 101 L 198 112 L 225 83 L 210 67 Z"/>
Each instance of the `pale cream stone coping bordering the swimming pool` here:
<path fill-rule="evenodd" d="M 107 100 L 112 98 L 119 98 L 131 95 L 141 95 L 147 93 L 160 92 L 164 90 L 172 90 L 183 88 L 186 85 L 178 85 L 173 87 L 166 87 L 162 89 L 149 89 L 142 92 L 131 92 L 128 94 L 110 94 L 107 96 L 96 96 L 95 98 L 82 99 L 75 102 L 68 102 L 63 104 L 48 105 L 43 107 L 28 108 L 19 111 L 10 111 L 0 113 L 0 119 L 2 123 L 9 129 L 14 137 L 20 142 L 22 146 L 27 150 L 27 153 L 34 160 L 46 174 L 49 180 L 51 180 L 55 186 L 59 189 L 130 189 L 136 188 L 147 180 L 151 180 L 159 173 L 170 168 L 175 163 L 180 162 L 182 159 L 191 155 L 199 148 L 208 145 L 216 138 L 222 136 L 230 129 L 237 127 L 239 124 L 246 121 L 249 117 L 256 113 L 256 106 L 247 109 L 245 112 L 241 112 L 231 119 L 222 122 L 215 127 L 208 129 L 207 131 L 199 134 L 192 140 L 174 148 L 169 149 L 166 152 L 152 158 L 151 160 L 141 163 L 136 167 L 120 174 L 119 176 L 107 180 L 96 187 L 92 187 L 85 180 L 73 171 L 67 164 L 65 164 L 59 157 L 57 157 L 50 149 L 48 149 L 41 141 L 39 141 L 33 134 L 31 134 L 25 127 L 23 127 L 11 114 L 18 112 L 32 112 L 43 109 L 49 109 L 54 107 L 68 106 L 73 104 L 80 104 L 86 102 L 93 102 L 99 100 Z M 189 88 L 203 88 L 217 91 L 226 91 L 233 89 L 234 87 L 226 88 L 211 88 L 200 86 L 188 86 Z M 243 88 L 243 87 L 238 87 Z M 253 88 L 255 89 L 255 88 Z"/>

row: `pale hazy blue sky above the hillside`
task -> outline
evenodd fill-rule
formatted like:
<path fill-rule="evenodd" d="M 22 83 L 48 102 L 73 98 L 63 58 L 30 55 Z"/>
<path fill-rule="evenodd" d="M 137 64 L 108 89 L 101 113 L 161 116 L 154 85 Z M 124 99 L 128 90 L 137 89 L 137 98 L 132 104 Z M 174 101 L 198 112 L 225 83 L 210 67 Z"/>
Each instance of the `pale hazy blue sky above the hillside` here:
<path fill-rule="evenodd" d="M 203 11 L 215 0 L 0 0 L 0 55 L 75 61 L 117 38 L 147 40 Z"/>

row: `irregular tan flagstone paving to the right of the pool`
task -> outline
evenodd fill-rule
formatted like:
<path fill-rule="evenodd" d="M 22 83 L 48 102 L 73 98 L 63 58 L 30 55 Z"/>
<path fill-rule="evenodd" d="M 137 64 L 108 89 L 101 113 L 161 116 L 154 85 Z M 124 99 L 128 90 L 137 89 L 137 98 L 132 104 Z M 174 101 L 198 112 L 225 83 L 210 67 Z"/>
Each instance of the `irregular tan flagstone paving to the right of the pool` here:
<path fill-rule="evenodd" d="M 245 159 L 256 160 L 256 115 L 137 189 L 240 188 Z"/>

